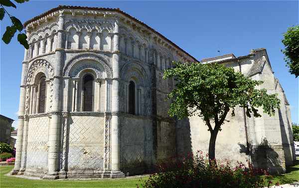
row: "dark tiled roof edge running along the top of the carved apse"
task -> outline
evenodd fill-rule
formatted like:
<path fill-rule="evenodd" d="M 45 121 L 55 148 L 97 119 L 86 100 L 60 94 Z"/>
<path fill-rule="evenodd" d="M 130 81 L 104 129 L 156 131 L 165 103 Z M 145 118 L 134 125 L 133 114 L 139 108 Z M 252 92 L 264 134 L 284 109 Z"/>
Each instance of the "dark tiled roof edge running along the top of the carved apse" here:
<path fill-rule="evenodd" d="M 178 48 L 179 50 L 181 50 L 182 52 L 184 52 L 186 55 L 189 55 L 191 58 L 193 58 L 194 61 L 199 62 L 195 57 L 193 57 L 192 55 L 190 55 L 189 53 L 187 53 L 185 50 L 183 50 L 182 48 L 180 48 L 179 46 L 177 46 L 174 42 L 172 42 L 171 40 L 167 39 L 165 36 L 163 36 L 161 33 L 159 33 L 158 31 L 154 30 L 153 28 L 151 28 L 149 25 L 145 24 L 144 22 L 138 20 L 137 18 L 131 16 L 130 14 L 122 11 L 120 8 L 103 8 L 103 7 L 88 7 L 88 6 L 70 6 L 70 5 L 59 5 L 55 8 L 52 8 L 40 15 L 37 15 L 27 21 L 24 22 L 24 27 L 26 27 L 27 24 L 29 24 L 32 21 L 35 21 L 51 12 L 60 10 L 60 9 L 64 9 L 64 8 L 69 8 L 69 9 L 89 9 L 89 10 L 99 10 L 99 11 L 115 11 L 115 12 L 119 12 L 121 14 L 123 14 L 124 16 L 127 16 L 131 19 L 133 19 L 134 21 L 138 22 L 139 24 L 145 26 L 146 28 L 148 28 L 149 30 L 151 30 L 152 32 L 156 33 L 157 35 L 159 35 L 161 38 L 163 38 L 164 40 L 166 40 L 167 42 L 169 42 L 170 44 L 172 44 L 174 47 Z"/>

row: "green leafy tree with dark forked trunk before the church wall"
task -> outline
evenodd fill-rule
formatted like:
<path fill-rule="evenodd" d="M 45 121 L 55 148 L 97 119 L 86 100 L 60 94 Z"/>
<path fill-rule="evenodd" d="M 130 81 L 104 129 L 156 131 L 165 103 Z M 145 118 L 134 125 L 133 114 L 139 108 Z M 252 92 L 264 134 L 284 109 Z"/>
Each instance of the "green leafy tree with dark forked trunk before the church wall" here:
<path fill-rule="evenodd" d="M 222 129 L 228 112 L 234 116 L 237 106 L 246 109 L 246 115 L 261 117 L 258 107 L 264 113 L 274 115 L 280 100 L 275 94 L 267 94 L 266 89 L 256 89 L 262 81 L 252 80 L 233 68 L 220 64 L 177 63 L 174 68 L 164 71 L 163 79 L 174 78 L 176 83 L 167 95 L 172 102 L 169 115 L 183 119 L 199 116 L 210 132 L 209 160 L 215 160 L 217 134 Z"/>

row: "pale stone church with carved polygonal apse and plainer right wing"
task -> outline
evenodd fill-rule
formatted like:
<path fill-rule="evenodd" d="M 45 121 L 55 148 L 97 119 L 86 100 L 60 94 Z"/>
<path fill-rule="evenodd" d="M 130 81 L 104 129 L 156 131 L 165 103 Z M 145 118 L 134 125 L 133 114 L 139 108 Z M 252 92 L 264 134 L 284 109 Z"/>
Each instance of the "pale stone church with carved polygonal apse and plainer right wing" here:
<path fill-rule="evenodd" d="M 199 118 L 168 116 L 165 96 L 174 80 L 162 80 L 171 61 L 199 61 L 159 32 L 118 8 L 64 5 L 24 26 L 30 47 L 22 62 L 12 175 L 120 178 L 207 151 L 209 133 Z M 247 118 L 241 108 L 228 117 L 217 159 L 284 172 L 294 161 L 290 107 L 266 49 L 201 62 L 263 80 L 281 99 L 274 117 Z"/>

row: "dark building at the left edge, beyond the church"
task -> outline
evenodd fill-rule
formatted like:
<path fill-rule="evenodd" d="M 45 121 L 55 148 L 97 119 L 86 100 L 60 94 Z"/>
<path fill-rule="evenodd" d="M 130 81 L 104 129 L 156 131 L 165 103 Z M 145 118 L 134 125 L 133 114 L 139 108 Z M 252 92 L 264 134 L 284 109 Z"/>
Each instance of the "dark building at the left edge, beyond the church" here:
<path fill-rule="evenodd" d="M 10 131 L 13 121 L 13 119 L 0 115 L 0 142 L 10 144 Z"/>

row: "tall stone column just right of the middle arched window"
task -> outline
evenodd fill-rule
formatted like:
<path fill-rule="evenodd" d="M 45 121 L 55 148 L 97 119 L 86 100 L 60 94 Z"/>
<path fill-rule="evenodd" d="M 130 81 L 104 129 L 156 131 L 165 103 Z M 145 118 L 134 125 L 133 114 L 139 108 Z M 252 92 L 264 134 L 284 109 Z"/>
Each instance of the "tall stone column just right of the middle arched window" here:
<path fill-rule="evenodd" d="M 112 125 L 111 125 L 111 178 L 125 177 L 120 171 L 120 72 L 119 72 L 119 25 L 115 21 L 114 51 L 112 55 Z"/>

